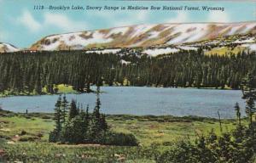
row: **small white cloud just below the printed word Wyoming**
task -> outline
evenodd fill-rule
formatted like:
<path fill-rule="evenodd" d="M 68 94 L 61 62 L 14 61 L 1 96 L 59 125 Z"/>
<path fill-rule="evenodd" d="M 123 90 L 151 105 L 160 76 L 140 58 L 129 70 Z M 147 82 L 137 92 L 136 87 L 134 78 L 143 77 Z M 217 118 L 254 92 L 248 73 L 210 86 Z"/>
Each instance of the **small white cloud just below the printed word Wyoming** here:
<path fill-rule="evenodd" d="M 209 22 L 220 22 L 220 23 L 227 23 L 230 22 L 229 14 L 221 11 L 214 11 L 210 12 L 208 15 Z"/>

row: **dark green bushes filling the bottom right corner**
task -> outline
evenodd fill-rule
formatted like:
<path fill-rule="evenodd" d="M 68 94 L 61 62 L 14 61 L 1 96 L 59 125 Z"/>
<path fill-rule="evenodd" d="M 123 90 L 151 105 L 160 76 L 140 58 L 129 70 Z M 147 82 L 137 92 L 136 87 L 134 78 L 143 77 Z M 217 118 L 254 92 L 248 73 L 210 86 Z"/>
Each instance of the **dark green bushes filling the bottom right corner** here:
<path fill-rule="evenodd" d="M 255 128 L 238 126 L 235 131 L 218 137 L 212 132 L 194 143 L 182 142 L 174 145 L 156 159 L 159 163 L 194 162 L 253 162 L 256 151 Z"/>

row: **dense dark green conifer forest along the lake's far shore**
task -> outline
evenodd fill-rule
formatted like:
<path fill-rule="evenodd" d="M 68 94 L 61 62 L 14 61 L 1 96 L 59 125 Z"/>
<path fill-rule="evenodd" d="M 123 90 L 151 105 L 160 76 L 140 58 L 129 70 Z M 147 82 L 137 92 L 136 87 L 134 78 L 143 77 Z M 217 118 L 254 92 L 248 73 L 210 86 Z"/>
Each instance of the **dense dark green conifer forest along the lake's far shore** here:
<path fill-rule="evenodd" d="M 122 59 L 131 64 L 122 63 Z M 255 52 L 219 56 L 205 55 L 201 49 L 158 57 L 122 55 L 122 52 L 118 55 L 83 51 L 3 53 L 0 93 L 57 93 L 57 84 L 73 86 L 81 93 L 89 93 L 91 85 L 102 84 L 239 89 L 247 72 L 255 67 Z"/>

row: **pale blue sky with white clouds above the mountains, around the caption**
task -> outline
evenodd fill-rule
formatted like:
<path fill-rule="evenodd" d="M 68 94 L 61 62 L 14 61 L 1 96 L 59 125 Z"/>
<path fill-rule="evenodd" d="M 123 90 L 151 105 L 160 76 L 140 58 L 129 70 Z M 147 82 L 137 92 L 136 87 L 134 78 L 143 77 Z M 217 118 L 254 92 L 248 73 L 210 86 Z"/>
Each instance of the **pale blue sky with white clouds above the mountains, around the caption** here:
<path fill-rule="evenodd" d="M 34 10 L 33 6 L 189 6 L 224 7 L 222 11 L 54 11 Z M 70 31 L 85 31 L 123 25 L 180 22 L 239 22 L 256 20 L 252 1 L 92 1 L 92 0 L 0 0 L 0 42 L 26 48 L 42 37 Z"/>

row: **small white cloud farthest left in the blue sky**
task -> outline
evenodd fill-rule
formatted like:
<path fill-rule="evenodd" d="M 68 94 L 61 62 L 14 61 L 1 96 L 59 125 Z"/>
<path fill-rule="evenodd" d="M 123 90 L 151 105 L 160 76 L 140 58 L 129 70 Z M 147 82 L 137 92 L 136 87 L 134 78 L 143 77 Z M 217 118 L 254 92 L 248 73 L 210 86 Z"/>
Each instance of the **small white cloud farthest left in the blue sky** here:
<path fill-rule="evenodd" d="M 28 11 L 24 11 L 23 14 L 18 18 L 18 22 L 22 25 L 26 26 L 31 31 L 38 31 L 41 28 L 40 23 L 35 20 L 32 14 Z"/>

